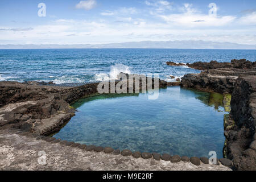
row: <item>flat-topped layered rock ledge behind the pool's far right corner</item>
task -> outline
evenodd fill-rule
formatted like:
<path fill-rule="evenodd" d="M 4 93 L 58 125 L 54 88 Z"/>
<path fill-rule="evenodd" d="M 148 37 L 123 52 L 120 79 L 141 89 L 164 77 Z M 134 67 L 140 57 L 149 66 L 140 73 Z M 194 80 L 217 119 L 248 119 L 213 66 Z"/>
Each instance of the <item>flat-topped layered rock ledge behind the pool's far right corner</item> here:
<path fill-rule="evenodd" d="M 206 68 L 205 71 L 199 74 L 184 75 L 181 79 L 181 85 L 206 92 L 228 92 L 231 94 L 238 77 L 256 75 L 255 63 L 244 59 L 232 60 L 231 63 L 217 64 L 215 61 L 204 63 L 201 67 Z M 193 64 L 200 65 L 201 63 Z"/>

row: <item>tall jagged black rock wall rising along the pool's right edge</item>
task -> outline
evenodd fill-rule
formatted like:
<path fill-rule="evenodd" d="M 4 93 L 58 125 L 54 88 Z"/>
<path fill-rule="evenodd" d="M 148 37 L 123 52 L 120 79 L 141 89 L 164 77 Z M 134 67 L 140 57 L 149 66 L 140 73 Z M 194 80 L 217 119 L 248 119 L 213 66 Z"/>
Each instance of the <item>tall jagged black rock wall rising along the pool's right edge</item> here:
<path fill-rule="evenodd" d="M 231 115 L 226 119 L 224 155 L 238 170 L 256 170 L 256 76 L 237 79 L 231 101 Z M 232 121 L 233 122 L 230 122 Z M 224 119 L 225 121 L 225 119 Z M 229 127 L 229 128 L 228 128 Z"/>

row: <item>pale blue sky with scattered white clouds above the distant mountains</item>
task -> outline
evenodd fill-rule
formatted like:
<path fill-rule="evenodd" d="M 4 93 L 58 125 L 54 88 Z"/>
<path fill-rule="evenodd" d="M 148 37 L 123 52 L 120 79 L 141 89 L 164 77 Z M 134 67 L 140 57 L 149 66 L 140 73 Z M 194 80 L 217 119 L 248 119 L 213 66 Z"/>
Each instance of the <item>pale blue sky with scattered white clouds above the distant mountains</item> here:
<path fill-rule="evenodd" d="M 0 44 L 146 40 L 256 44 L 256 1 L 0 1 Z"/>

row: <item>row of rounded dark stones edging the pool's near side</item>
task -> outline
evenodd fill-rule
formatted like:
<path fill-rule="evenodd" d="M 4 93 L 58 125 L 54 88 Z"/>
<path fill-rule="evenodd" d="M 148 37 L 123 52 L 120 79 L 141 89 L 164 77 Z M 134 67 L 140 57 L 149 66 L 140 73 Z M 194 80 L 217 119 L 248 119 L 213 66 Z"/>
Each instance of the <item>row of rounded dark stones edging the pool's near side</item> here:
<path fill-rule="evenodd" d="M 205 158 L 205 157 L 201 157 L 201 158 L 197 158 L 197 157 L 191 157 L 188 158 L 187 156 L 182 156 L 180 157 L 179 155 L 174 155 L 171 156 L 170 154 L 163 154 L 160 155 L 156 152 L 150 153 L 150 152 L 131 152 L 130 150 L 122 150 L 120 151 L 119 149 L 114 150 L 111 147 L 101 147 L 101 146 L 94 146 L 94 145 L 89 145 L 86 146 L 86 144 L 80 144 L 80 143 L 75 143 L 75 142 L 68 142 L 67 140 L 61 140 L 61 139 L 56 139 L 54 137 L 46 137 L 44 135 L 38 135 L 38 134 L 34 134 L 31 132 L 20 132 L 17 134 L 22 135 L 22 136 L 26 136 L 26 137 L 32 137 L 32 138 L 36 138 L 36 140 L 44 140 L 46 142 L 52 143 L 52 144 L 56 144 L 59 143 L 63 146 L 69 146 L 72 148 L 80 148 L 81 150 L 85 150 L 85 151 L 94 151 L 94 152 L 105 152 L 105 154 L 113 154 L 113 155 L 122 155 L 122 156 L 133 156 L 133 158 L 138 159 L 138 158 L 142 158 L 142 159 L 154 159 L 154 160 L 164 160 L 164 161 L 170 161 L 171 163 L 178 163 L 178 162 L 190 162 L 195 166 L 200 166 L 201 162 L 203 164 L 209 164 L 209 159 Z M 233 162 L 232 160 L 226 159 L 226 158 L 222 158 L 220 160 L 217 159 L 217 166 L 220 165 L 219 161 L 221 162 L 221 164 L 223 166 L 232 168 L 233 167 Z"/>

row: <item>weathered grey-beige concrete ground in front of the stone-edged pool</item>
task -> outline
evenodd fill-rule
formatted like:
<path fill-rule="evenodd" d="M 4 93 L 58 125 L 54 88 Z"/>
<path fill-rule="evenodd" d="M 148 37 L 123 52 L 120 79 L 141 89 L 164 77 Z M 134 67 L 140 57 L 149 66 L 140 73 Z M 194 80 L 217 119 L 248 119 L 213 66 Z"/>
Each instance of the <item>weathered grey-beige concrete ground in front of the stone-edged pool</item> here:
<path fill-rule="evenodd" d="M 38 163 L 39 151 L 46 152 L 46 165 Z M 228 167 L 189 162 L 171 163 L 133 156 L 85 151 L 0 130 L 0 170 L 231 170 Z"/>

